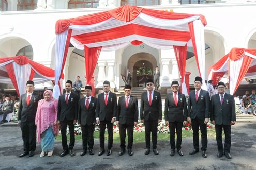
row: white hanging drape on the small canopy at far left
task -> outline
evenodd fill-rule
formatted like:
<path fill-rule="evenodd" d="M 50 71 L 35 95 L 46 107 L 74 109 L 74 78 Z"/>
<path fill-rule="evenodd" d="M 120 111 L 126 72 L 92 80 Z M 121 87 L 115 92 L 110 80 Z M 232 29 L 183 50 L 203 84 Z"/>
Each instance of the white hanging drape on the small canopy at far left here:
<path fill-rule="evenodd" d="M 13 69 L 17 81 L 17 86 L 20 94 L 26 93 L 26 82 L 29 80 L 29 76 L 31 74 L 31 66 L 19 65 L 16 62 L 13 62 Z"/>

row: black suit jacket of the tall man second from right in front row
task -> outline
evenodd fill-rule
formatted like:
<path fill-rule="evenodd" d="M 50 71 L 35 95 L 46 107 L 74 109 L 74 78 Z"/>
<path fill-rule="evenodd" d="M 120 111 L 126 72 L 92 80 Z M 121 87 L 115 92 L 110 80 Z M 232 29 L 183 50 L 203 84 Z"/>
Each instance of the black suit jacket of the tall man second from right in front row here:
<path fill-rule="evenodd" d="M 195 91 L 192 90 L 188 97 L 188 117 L 204 120 L 210 117 L 210 95 L 206 90 L 201 89 L 198 100 L 195 100 Z"/>

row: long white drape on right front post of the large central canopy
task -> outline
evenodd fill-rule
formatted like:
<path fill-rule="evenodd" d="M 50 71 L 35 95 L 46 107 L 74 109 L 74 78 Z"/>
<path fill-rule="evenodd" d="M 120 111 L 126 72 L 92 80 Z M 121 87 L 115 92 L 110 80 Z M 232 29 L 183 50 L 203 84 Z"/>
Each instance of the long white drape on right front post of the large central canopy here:
<path fill-rule="evenodd" d="M 206 90 L 205 81 L 205 44 L 204 44 L 204 26 L 200 20 L 195 20 L 194 25 L 194 37 L 195 44 L 197 46 L 199 71 L 203 79 L 202 89 Z"/>

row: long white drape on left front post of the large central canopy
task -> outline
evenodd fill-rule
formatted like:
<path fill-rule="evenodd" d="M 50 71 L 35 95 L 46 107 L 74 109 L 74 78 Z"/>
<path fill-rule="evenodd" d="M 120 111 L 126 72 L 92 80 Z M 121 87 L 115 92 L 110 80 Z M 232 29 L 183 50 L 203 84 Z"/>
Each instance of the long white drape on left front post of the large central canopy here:
<path fill-rule="evenodd" d="M 64 51 L 66 46 L 68 36 L 68 29 L 60 34 L 56 35 L 56 45 L 55 45 L 55 85 L 53 87 L 53 97 L 58 98 L 59 95 L 61 95 L 61 92 L 59 90 L 58 81 L 61 77 L 61 71 L 62 71 L 62 64 L 64 59 Z"/>

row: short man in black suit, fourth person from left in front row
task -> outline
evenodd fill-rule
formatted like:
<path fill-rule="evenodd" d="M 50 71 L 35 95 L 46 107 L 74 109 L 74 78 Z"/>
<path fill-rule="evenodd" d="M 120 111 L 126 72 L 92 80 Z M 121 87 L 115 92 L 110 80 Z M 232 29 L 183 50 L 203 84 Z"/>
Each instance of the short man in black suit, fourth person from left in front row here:
<path fill-rule="evenodd" d="M 84 156 L 87 152 L 87 144 L 89 145 L 89 154 L 94 155 L 94 125 L 96 123 L 96 104 L 97 99 L 92 96 L 92 87 L 85 86 L 85 97 L 79 100 L 78 124 L 81 125 L 83 151 L 80 156 Z"/>

